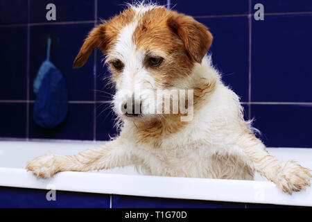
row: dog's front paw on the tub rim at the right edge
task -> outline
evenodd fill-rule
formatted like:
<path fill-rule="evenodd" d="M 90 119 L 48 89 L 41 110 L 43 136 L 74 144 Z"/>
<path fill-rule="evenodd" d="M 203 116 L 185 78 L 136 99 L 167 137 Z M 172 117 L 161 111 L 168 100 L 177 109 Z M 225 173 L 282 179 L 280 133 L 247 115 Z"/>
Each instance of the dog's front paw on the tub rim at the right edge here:
<path fill-rule="evenodd" d="M 311 186 L 311 174 L 306 169 L 294 161 L 285 162 L 284 166 L 277 173 L 277 186 L 284 192 L 291 194 L 293 191 L 306 189 Z"/>

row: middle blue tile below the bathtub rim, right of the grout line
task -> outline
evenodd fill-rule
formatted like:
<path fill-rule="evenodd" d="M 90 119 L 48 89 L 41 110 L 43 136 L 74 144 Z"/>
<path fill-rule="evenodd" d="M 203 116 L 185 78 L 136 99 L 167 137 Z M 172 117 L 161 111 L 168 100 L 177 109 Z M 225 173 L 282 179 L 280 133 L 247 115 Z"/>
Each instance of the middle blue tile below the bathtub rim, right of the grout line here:
<path fill-rule="evenodd" d="M 245 204 L 113 195 L 112 208 L 245 208 Z"/>

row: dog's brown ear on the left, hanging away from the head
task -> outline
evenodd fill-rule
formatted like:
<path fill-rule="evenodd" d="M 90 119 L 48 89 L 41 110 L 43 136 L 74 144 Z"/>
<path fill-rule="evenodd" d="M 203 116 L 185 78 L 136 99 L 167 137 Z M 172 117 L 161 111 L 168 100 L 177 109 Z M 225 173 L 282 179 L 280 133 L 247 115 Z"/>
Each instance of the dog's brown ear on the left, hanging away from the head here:
<path fill-rule="evenodd" d="M 73 61 L 73 68 L 79 68 L 85 65 L 89 56 L 91 55 L 94 48 L 99 48 L 102 51 L 105 50 L 107 46 L 107 40 L 105 38 L 105 24 L 96 26 L 90 31 L 89 35 L 83 42 L 83 46 Z"/>

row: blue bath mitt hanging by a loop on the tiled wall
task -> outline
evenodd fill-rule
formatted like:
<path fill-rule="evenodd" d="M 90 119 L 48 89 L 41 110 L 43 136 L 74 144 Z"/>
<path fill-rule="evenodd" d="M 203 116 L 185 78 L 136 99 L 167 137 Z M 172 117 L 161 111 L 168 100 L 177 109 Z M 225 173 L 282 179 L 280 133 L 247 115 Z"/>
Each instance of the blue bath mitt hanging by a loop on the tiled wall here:
<path fill-rule="evenodd" d="M 67 87 L 62 73 L 50 62 L 51 39 L 48 40 L 46 60 L 33 83 L 37 94 L 33 108 L 35 123 L 43 128 L 55 128 L 67 116 Z"/>

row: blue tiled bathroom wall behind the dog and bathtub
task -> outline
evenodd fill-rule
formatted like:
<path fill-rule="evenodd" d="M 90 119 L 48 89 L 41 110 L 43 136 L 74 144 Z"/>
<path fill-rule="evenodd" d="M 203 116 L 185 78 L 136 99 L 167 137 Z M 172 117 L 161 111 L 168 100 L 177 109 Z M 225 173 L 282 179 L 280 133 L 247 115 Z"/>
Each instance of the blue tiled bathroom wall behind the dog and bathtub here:
<path fill-rule="evenodd" d="M 2 139 L 107 140 L 116 134 L 105 101 L 113 89 L 98 51 L 73 69 L 87 33 L 122 10 L 124 1 L 0 0 L 0 137 Z M 245 118 L 254 118 L 267 146 L 312 147 L 312 1 L 158 1 L 192 15 L 214 35 L 210 53 L 225 84 L 241 96 Z M 46 5 L 56 21 L 46 20 Z M 264 6 L 255 20 L 254 5 Z M 69 94 L 67 119 L 46 130 L 33 121 L 33 80 L 45 60 L 48 35 L 56 36 L 51 62 Z M 56 44 L 55 44 L 56 43 Z"/>

